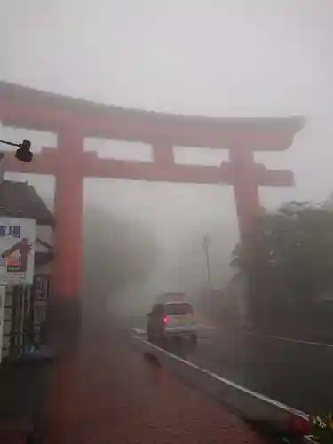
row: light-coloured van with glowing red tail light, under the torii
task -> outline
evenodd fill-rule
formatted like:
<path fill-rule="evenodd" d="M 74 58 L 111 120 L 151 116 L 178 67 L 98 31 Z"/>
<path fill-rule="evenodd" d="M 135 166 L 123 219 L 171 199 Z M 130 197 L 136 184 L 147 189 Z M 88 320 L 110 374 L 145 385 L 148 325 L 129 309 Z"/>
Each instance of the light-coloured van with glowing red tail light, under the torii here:
<path fill-rule="evenodd" d="M 192 304 L 180 301 L 153 305 L 148 313 L 147 337 L 152 342 L 168 337 L 189 337 L 196 342 L 197 324 Z"/>

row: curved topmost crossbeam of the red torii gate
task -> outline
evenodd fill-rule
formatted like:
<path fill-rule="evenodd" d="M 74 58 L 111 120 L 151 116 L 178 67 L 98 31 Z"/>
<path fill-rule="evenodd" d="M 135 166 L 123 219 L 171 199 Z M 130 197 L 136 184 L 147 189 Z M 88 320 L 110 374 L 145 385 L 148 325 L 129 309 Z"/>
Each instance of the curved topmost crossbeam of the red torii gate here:
<path fill-rule="evenodd" d="M 156 139 L 183 147 L 226 147 L 245 144 L 256 151 L 285 150 L 304 124 L 300 117 L 212 118 L 124 109 L 36 91 L 0 82 L 4 125 L 58 132 L 79 126 L 84 137 L 151 144 Z M 19 105 L 20 111 L 17 109 Z M 33 109 L 33 112 L 31 112 Z"/>

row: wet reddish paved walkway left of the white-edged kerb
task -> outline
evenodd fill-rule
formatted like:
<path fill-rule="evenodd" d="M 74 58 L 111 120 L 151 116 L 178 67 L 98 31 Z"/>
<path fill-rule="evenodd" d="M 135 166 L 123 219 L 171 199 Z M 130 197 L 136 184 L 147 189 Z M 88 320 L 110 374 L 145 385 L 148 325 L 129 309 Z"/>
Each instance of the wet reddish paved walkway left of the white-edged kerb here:
<path fill-rule="evenodd" d="M 109 328 L 60 363 L 44 427 L 45 444 L 268 444 Z"/>

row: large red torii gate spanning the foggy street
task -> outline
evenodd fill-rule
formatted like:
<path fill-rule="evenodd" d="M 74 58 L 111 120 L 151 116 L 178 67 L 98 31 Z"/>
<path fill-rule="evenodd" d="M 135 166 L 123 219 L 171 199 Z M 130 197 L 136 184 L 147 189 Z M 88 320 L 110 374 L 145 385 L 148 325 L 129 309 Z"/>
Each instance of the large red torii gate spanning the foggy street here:
<path fill-rule="evenodd" d="M 288 170 L 266 170 L 254 151 L 287 149 L 303 125 L 302 118 L 205 118 L 166 115 L 96 105 L 42 91 L 0 83 L 3 125 L 50 131 L 58 149 L 43 148 L 31 164 L 9 160 L 7 170 L 56 177 L 56 252 L 53 313 L 66 340 L 80 325 L 83 178 L 128 178 L 234 186 L 242 240 L 258 211 L 258 186 L 293 186 Z M 153 162 L 99 160 L 84 152 L 84 138 L 143 142 L 153 147 Z M 172 147 L 225 147 L 230 162 L 220 167 L 178 165 Z"/>

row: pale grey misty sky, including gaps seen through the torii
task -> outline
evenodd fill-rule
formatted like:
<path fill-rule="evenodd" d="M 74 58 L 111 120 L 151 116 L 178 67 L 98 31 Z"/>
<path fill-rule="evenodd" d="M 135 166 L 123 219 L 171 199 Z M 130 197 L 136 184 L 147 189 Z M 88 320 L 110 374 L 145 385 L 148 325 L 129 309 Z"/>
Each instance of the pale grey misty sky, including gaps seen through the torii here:
<path fill-rule="evenodd" d="M 256 155 L 267 167 L 293 170 L 297 181 L 294 189 L 261 189 L 262 202 L 317 200 L 333 190 L 331 0 L 0 0 L 0 6 L 2 80 L 176 114 L 306 115 L 288 152 Z M 56 146 L 50 134 L 7 128 L 1 134 L 33 139 L 36 150 Z M 101 157 L 150 155 L 149 147 L 133 144 L 85 145 Z M 222 149 L 175 153 L 179 163 L 228 158 Z M 50 201 L 52 178 L 28 179 Z M 190 274 L 204 279 L 203 233 L 212 239 L 214 285 L 223 284 L 238 236 L 231 188 L 88 179 L 85 191 L 86 202 L 97 199 L 153 229 L 164 251 L 154 289 L 186 286 Z M 179 244 L 190 240 L 187 259 L 175 266 Z"/>

